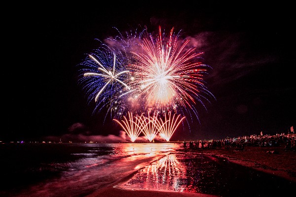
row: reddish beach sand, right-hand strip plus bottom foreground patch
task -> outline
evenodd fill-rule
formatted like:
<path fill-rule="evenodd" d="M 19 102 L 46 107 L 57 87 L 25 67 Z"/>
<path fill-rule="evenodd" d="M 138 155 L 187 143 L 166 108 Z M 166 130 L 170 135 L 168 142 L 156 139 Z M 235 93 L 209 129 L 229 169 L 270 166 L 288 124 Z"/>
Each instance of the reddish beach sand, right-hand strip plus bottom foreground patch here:
<path fill-rule="evenodd" d="M 229 162 L 251 167 L 265 173 L 283 177 L 296 183 L 296 152 L 285 151 L 284 146 L 277 147 L 253 147 L 247 146 L 244 150 L 236 148 L 229 149 L 197 149 L 189 150 L 180 148 L 178 151 L 187 154 L 192 152 L 198 154 L 211 154 L 222 157 Z M 132 176 L 132 175 L 131 175 Z M 186 192 L 165 192 L 153 190 L 128 190 L 121 183 L 131 177 L 118 180 L 110 187 L 102 188 L 87 197 L 215 197 L 213 195 L 186 193 Z"/>

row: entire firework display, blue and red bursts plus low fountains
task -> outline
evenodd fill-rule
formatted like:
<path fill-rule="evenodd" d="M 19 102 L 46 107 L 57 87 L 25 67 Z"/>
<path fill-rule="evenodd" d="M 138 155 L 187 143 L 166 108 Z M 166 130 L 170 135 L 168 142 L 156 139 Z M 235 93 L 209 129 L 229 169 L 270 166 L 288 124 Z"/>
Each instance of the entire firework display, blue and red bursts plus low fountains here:
<path fill-rule="evenodd" d="M 166 35 L 160 27 L 156 36 L 147 30 L 125 38 L 120 33 L 81 64 L 79 82 L 88 102 L 95 102 L 94 111 L 107 108 L 133 142 L 141 132 L 149 141 L 158 132 L 169 141 L 185 116 L 193 111 L 198 119 L 199 104 L 215 99 L 203 80 L 211 67 L 180 35 L 174 28 Z"/>

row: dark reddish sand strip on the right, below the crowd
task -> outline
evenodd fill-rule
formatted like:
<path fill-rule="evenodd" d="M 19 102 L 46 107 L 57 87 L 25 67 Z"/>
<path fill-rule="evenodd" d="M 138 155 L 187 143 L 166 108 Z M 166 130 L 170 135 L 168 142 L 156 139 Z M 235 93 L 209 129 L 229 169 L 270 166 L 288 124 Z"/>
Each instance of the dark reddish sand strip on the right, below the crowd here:
<path fill-rule="evenodd" d="M 179 151 L 184 152 L 182 149 Z M 296 152 L 285 151 L 284 146 L 247 146 L 244 150 L 236 150 L 236 148 L 229 148 L 228 150 L 199 149 L 191 152 L 225 158 L 229 162 L 279 176 L 296 183 Z"/>

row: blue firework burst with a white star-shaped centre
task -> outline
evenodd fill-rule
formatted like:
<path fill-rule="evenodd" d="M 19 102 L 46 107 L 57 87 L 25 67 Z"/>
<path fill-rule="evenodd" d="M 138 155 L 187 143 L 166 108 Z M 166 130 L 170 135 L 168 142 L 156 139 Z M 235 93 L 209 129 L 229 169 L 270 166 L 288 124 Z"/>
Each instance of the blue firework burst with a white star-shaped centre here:
<path fill-rule="evenodd" d="M 119 54 L 120 55 L 120 54 Z M 80 69 L 79 83 L 86 92 L 88 103 L 95 103 L 96 111 L 104 107 L 113 114 L 124 111 L 124 95 L 130 91 L 130 72 L 125 68 L 125 59 L 116 57 L 108 47 L 101 47 L 89 54 Z"/>

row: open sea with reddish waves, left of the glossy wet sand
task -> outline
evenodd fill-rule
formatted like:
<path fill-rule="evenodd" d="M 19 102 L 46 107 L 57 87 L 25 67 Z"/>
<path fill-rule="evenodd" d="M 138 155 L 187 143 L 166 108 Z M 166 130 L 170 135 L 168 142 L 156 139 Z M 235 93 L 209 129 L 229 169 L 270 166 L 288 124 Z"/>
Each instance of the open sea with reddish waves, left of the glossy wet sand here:
<path fill-rule="evenodd" d="M 0 196 L 85 196 L 179 147 L 175 143 L 0 144 Z"/>

